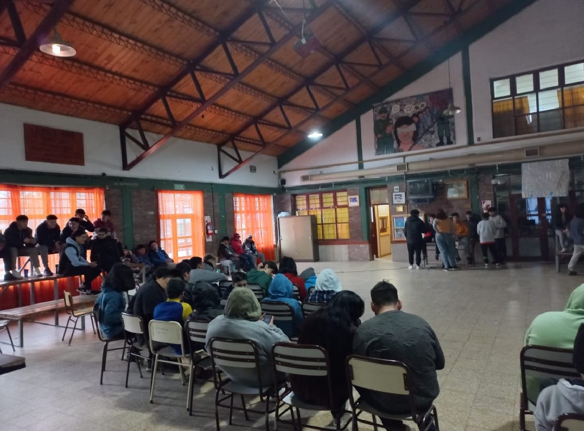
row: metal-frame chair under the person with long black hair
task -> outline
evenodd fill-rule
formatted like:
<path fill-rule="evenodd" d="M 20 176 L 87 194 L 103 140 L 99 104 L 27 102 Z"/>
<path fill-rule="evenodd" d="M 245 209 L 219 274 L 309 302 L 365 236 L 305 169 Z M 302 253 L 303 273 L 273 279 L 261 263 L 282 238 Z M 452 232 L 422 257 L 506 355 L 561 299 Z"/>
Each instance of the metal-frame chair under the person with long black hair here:
<path fill-rule="evenodd" d="M 283 388 L 279 390 L 274 387 L 276 394 L 276 416 L 274 418 L 274 426 L 277 431 L 278 420 L 280 417 L 290 410 L 290 415 L 292 417 L 291 424 L 296 430 L 296 425 L 302 430 L 303 426 L 311 429 L 318 430 L 329 430 L 329 428 L 315 426 L 315 425 L 303 425 L 302 417 L 300 415 L 300 409 L 311 410 L 311 411 L 345 411 L 345 403 L 342 405 L 334 405 L 332 398 L 332 381 L 331 381 L 331 365 L 329 362 L 328 352 L 326 349 L 317 345 L 296 345 L 290 343 L 276 343 L 272 347 L 272 359 L 274 365 L 274 376 L 277 373 L 284 373 L 290 376 L 294 374 L 296 376 L 307 376 L 307 377 L 326 377 L 326 384 L 328 387 L 329 399 L 326 405 L 315 405 L 308 402 L 304 402 L 298 399 L 294 394 L 294 391 L 290 387 Z M 289 407 L 280 413 L 280 404 L 287 404 Z M 296 418 L 294 419 L 294 408 L 296 408 Z M 345 429 L 350 420 L 347 420 L 345 425 L 341 426 L 342 416 L 335 418 L 335 427 L 337 431 Z M 284 423 L 290 423 L 287 420 L 281 420 Z"/>

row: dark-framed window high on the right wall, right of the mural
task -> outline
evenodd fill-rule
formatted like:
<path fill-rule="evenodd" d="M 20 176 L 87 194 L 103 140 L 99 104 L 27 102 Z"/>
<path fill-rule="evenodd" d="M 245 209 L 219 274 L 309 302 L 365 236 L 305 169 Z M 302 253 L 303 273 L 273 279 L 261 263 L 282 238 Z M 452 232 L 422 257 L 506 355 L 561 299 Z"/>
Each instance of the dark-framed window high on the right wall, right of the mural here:
<path fill-rule="evenodd" d="M 491 81 L 493 137 L 584 126 L 584 62 Z"/>

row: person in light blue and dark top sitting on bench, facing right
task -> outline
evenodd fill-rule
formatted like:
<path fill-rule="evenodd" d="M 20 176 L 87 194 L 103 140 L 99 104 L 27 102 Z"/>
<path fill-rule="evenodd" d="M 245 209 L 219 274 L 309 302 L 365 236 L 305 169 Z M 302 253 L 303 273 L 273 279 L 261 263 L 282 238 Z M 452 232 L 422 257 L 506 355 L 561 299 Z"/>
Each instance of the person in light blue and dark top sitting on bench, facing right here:
<path fill-rule="evenodd" d="M 92 290 L 91 282 L 99 276 L 102 269 L 97 262 L 88 262 L 83 257 L 83 246 L 87 240 L 87 234 L 82 230 L 73 232 L 71 237 L 65 240 L 65 246 L 59 256 L 59 273 L 84 276 L 83 286 L 79 287 L 79 291 L 97 295 L 99 290 Z"/>

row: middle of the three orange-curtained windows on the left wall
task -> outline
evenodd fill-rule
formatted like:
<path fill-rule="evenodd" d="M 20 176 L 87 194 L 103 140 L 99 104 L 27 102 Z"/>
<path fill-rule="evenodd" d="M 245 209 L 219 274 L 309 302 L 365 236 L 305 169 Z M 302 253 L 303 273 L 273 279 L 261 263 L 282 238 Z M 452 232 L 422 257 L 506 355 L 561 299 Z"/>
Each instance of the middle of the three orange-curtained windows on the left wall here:
<path fill-rule="evenodd" d="M 158 192 L 160 246 L 175 261 L 205 253 L 203 192 Z"/>

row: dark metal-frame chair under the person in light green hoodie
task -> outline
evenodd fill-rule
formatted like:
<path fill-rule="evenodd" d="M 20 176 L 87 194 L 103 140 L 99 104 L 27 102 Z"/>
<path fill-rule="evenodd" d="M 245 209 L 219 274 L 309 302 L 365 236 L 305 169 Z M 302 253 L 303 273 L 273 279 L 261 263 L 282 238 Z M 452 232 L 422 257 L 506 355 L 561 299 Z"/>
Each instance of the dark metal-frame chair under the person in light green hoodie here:
<path fill-rule="evenodd" d="M 528 378 L 580 377 L 572 363 L 572 349 L 534 346 L 523 347 L 520 353 L 521 366 L 521 402 L 519 405 L 519 429 L 526 430 L 525 416 L 533 415 L 536 406 L 527 398 Z M 536 399 L 537 401 L 537 399 Z"/>

